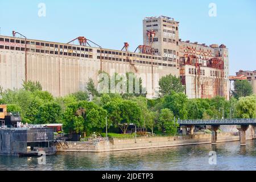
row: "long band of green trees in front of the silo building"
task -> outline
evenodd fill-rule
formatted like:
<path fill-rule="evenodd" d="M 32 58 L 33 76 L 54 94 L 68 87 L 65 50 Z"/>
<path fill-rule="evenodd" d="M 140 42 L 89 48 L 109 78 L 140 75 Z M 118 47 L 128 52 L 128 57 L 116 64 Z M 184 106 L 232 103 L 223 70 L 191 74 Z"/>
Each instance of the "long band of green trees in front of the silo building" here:
<path fill-rule="evenodd" d="M 188 99 L 180 78 L 172 75 L 160 78 L 159 97 L 149 100 L 141 78 L 134 77 L 125 89 L 129 84 L 134 87 L 135 81 L 139 93 L 100 93 L 90 78 L 85 92 L 65 97 L 53 97 L 39 82 L 28 81 L 21 89 L 1 89 L 0 104 L 7 104 L 9 112 L 18 111 L 24 123 L 63 123 L 65 133 L 86 135 L 104 131 L 106 119 L 115 133 L 125 134 L 133 124 L 141 131 L 176 134 L 177 119 L 256 118 L 256 96 L 247 81 L 235 82 L 229 101 L 219 96 Z"/>

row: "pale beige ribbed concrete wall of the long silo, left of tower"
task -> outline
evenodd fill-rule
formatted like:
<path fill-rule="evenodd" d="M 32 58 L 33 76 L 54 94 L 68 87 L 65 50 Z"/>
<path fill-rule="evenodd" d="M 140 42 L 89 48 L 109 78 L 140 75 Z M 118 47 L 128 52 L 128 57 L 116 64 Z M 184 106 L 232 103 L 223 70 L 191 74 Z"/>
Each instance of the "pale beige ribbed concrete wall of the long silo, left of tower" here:
<path fill-rule="evenodd" d="M 39 42 L 39 40 L 30 41 Z M 63 46 L 63 44 L 60 43 L 54 44 L 56 46 Z M 72 46 L 69 44 L 67 45 Z M 75 47 L 81 48 L 82 46 Z M 60 50 L 58 48 L 35 46 L 32 44 L 28 45 L 27 48 L 30 50 L 38 49 L 53 52 Z M 92 52 L 87 53 L 92 56 L 91 58 L 28 51 L 27 80 L 39 81 L 43 86 L 43 90 L 51 92 L 53 96 L 65 96 L 79 90 L 85 90 L 86 83 L 90 77 L 97 83 L 98 72 L 101 69 L 101 60 L 98 58 L 100 53 L 97 52 L 98 48 L 90 49 L 92 49 Z M 105 50 L 108 50 L 108 52 L 114 51 L 109 49 Z M 138 53 L 136 55 L 138 56 Z M 148 55 L 143 55 L 143 57 L 139 58 L 137 56 L 131 56 L 130 59 L 133 61 L 144 62 L 143 64 L 135 63 L 134 66 L 123 61 L 123 59 L 126 59 L 126 56 L 105 53 L 101 56 L 111 58 L 111 60 L 102 59 L 102 71 L 108 72 L 110 75 L 113 75 L 115 72 L 119 74 L 135 72 L 134 67 L 136 67 L 138 69 L 136 75 L 137 77 L 142 77 L 142 85 L 147 89 L 147 96 L 149 98 L 156 96 L 155 93 L 159 88 L 158 82 L 162 76 L 169 75 L 170 73 L 179 76 L 179 68 L 155 64 L 153 65 L 152 78 L 152 66 L 151 64 L 146 64 L 151 63 L 152 61 L 151 59 L 146 58 Z M 122 59 L 122 61 L 112 60 L 113 56 Z M 23 80 L 26 80 L 25 57 L 24 51 L 5 48 L 0 49 L 0 86 L 3 90 L 19 89 L 22 87 Z M 154 59 L 153 61 L 161 64 L 164 62 L 158 59 Z M 154 85 L 152 86 L 152 84 Z M 152 88 L 154 88 L 154 90 L 152 90 Z"/>

